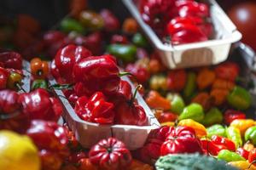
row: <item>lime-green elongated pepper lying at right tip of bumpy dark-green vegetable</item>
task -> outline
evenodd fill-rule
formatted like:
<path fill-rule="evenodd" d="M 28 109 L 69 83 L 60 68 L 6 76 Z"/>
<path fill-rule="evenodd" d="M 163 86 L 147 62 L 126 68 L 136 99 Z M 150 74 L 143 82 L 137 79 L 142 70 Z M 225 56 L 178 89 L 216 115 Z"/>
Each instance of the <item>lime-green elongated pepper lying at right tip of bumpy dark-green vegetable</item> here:
<path fill-rule="evenodd" d="M 220 150 L 218 152 L 218 159 L 224 160 L 224 161 L 246 161 L 246 159 L 236 152 L 230 151 L 230 150 Z"/>

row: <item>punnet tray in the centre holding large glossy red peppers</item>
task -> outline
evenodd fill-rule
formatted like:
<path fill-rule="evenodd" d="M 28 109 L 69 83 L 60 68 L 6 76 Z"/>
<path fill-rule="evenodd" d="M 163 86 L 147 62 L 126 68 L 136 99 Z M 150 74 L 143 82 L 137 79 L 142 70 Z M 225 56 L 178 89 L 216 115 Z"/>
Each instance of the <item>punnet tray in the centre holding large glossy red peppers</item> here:
<path fill-rule="evenodd" d="M 130 82 L 132 91 L 135 88 L 132 85 L 128 77 L 122 77 L 125 81 Z M 55 84 L 55 79 L 49 80 L 50 84 Z M 55 94 L 58 96 L 64 96 L 61 90 L 55 89 Z M 152 111 L 148 108 L 148 105 L 143 100 L 140 94 L 137 94 L 137 101 L 139 105 L 142 105 L 148 116 L 149 126 L 131 126 L 131 125 L 100 125 L 94 122 L 86 122 L 77 116 L 73 110 L 72 105 L 69 104 L 68 100 L 64 97 L 60 97 L 61 102 L 64 106 L 63 117 L 67 122 L 68 127 L 73 131 L 76 139 L 85 148 L 90 148 L 101 139 L 108 137 L 114 137 L 123 141 L 129 150 L 136 150 L 137 148 L 143 147 L 148 133 L 157 127 L 160 127 L 160 123 L 154 117 Z"/>

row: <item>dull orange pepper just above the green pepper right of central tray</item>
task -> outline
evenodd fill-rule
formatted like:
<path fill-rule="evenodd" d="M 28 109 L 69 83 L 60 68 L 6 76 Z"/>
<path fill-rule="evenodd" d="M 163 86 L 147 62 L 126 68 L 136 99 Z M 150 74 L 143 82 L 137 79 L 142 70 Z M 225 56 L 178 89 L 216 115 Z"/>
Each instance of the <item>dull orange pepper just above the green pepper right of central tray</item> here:
<path fill-rule="evenodd" d="M 200 104 L 204 108 L 204 111 L 207 111 L 214 104 L 214 99 L 206 92 L 201 92 L 197 94 L 195 98 L 192 99 L 191 102 Z"/>

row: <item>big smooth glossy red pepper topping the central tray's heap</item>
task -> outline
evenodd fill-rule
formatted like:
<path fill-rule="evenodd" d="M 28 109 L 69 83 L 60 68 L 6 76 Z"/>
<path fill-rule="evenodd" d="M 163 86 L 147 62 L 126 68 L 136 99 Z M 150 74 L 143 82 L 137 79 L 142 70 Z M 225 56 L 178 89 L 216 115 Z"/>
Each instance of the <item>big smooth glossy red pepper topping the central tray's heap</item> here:
<path fill-rule="evenodd" d="M 76 82 L 84 84 L 85 94 L 113 94 L 119 88 L 119 68 L 111 55 L 82 59 L 74 65 L 73 75 Z"/>

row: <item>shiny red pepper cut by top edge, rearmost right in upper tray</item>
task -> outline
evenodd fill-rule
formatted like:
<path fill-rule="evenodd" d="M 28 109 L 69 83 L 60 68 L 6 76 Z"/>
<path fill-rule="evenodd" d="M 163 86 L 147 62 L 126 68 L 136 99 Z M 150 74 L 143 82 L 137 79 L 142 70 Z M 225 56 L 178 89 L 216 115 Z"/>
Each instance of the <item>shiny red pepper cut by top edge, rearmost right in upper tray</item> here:
<path fill-rule="evenodd" d="M 176 1 L 175 3 L 179 16 L 210 17 L 210 10 L 207 4 L 195 1 Z"/>

